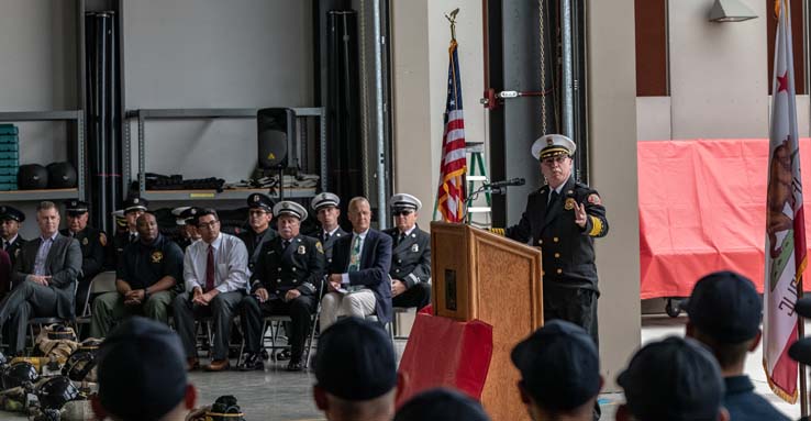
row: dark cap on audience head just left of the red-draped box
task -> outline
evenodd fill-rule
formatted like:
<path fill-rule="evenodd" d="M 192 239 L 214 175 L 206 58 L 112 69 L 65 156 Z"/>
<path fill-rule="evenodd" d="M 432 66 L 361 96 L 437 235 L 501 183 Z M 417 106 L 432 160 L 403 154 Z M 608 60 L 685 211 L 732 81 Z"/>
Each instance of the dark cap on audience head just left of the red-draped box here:
<path fill-rule="evenodd" d="M 318 386 L 341 399 L 374 399 L 397 386 L 391 339 L 379 324 L 341 319 L 321 334 L 315 354 Z"/>

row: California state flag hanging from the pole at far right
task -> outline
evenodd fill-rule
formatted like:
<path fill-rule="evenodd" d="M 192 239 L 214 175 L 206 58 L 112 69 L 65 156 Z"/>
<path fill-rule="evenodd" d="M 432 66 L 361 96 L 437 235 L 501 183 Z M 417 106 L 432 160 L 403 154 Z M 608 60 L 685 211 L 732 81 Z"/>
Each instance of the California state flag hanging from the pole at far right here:
<path fill-rule="evenodd" d="M 769 131 L 766 196 L 766 277 L 764 278 L 763 364 L 771 390 L 797 401 L 797 363 L 788 347 L 797 340 L 798 281 L 806 269 L 806 223 L 797 136 L 793 58 L 788 0 L 778 0 L 775 80 Z"/>

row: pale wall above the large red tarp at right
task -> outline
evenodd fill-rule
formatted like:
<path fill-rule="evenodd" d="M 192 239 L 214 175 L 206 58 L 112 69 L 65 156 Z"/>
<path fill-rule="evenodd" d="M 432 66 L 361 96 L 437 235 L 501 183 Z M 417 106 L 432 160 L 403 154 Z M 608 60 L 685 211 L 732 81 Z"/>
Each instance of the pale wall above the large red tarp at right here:
<path fill-rule="evenodd" d="M 711 2 L 668 2 L 670 97 L 636 99 L 637 140 L 768 137 L 771 11 L 763 1 L 742 1 L 757 19 L 712 23 Z M 800 135 L 808 136 L 808 96 L 797 97 L 797 113 Z"/>

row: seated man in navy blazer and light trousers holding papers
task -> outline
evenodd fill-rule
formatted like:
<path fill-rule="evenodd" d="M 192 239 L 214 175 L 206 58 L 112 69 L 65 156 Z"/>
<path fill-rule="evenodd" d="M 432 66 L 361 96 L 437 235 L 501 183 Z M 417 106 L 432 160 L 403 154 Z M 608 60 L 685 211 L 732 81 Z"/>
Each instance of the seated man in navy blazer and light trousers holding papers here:
<path fill-rule="evenodd" d="M 340 317 L 377 315 L 385 324 L 391 320 L 391 237 L 373 230 L 369 201 L 349 201 L 352 235 L 335 243 L 330 265 L 327 292 L 321 301 L 321 331 Z"/>

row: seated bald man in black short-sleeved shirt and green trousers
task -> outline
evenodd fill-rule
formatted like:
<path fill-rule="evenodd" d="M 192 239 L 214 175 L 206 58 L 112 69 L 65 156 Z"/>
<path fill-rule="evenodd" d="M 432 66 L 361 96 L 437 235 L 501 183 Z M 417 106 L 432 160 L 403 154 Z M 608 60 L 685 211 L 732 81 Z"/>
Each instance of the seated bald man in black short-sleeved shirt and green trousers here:
<path fill-rule="evenodd" d="M 137 219 L 138 241 L 124 247 L 115 289 L 93 301 L 90 336 L 105 337 L 115 323 L 132 314 L 142 314 L 169 323 L 169 307 L 182 284 L 184 253 L 158 231 L 153 213 Z"/>

